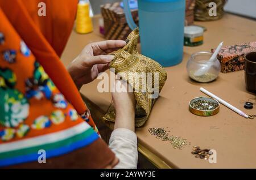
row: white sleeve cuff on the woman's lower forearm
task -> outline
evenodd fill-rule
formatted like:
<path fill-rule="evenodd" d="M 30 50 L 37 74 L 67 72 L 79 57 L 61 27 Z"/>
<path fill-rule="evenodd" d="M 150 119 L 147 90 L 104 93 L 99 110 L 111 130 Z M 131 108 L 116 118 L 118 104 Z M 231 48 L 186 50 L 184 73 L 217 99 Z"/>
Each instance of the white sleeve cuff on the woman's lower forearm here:
<path fill-rule="evenodd" d="M 135 169 L 138 163 L 137 135 L 126 128 L 115 129 L 109 139 L 109 148 L 119 159 L 116 169 Z"/>

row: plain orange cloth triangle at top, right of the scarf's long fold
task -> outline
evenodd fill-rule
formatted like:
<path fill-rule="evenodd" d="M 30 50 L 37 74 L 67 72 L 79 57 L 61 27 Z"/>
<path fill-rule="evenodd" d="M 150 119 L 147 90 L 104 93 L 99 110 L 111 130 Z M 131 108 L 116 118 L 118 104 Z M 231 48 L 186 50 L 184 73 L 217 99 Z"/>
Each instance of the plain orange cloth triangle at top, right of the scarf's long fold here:
<path fill-rule="evenodd" d="M 46 16 L 38 16 L 39 3 L 46 3 Z M 61 55 L 72 31 L 77 10 L 77 0 L 23 0 L 24 7 L 55 50 Z"/>

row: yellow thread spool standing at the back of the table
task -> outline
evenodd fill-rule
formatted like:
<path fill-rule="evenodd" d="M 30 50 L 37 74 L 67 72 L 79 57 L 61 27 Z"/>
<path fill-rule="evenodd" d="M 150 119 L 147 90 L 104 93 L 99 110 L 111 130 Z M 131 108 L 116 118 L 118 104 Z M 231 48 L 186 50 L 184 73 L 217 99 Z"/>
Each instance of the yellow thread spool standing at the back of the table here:
<path fill-rule="evenodd" d="M 76 32 L 89 33 L 93 31 L 92 18 L 90 18 L 90 4 L 88 0 L 79 1 L 76 14 Z"/>

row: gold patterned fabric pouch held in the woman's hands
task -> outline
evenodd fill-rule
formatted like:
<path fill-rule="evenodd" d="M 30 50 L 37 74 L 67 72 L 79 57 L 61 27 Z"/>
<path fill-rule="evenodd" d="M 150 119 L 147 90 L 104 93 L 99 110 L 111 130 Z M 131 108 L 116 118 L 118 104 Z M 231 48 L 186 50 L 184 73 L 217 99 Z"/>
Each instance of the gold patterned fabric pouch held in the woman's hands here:
<path fill-rule="evenodd" d="M 152 97 L 154 97 L 156 91 L 160 93 L 167 79 L 166 70 L 158 62 L 137 52 L 138 40 L 139 29 L 136 28 L 127 37 L 126 46 L 113 53 L 115 58 L 110 63 L 110 68 L 114 68 L 115 74 L 133 88 L 137 102 L 135 109 L 136 127 L 140 127 L 146 122 L 156 100 Z M 159 79 L 157 79 L 157 76 Z M 143 77 L 146 80 L 143 80 Z M 113 106 L 109 108 L 102 119 L 104 121 L 115 121 Z"/>

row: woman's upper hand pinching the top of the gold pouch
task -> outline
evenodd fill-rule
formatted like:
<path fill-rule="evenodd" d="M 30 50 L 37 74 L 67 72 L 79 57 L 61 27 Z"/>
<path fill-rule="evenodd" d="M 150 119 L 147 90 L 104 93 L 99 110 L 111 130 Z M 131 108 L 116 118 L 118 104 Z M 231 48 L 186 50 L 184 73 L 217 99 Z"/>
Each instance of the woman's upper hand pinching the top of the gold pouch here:
<path fill-rule="evenodd" d="M 69 65 L 68 72 L 78 89 L 92 82 L 100 72 L 109 68 L 114 55 L 108 55 L 126 45 L 125 41 L 108 40 L 88 44 Z"/>

